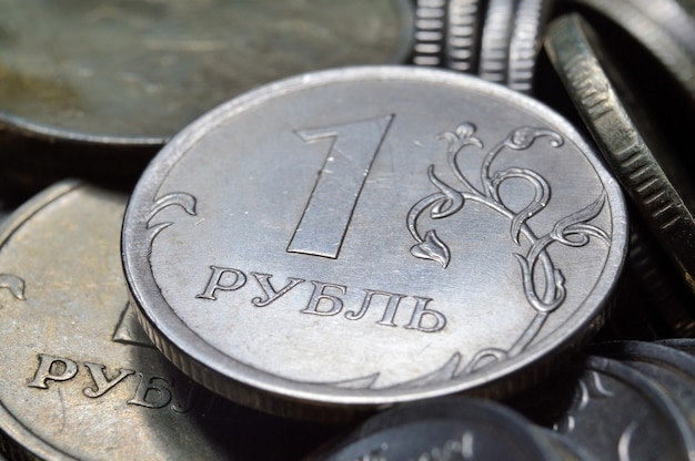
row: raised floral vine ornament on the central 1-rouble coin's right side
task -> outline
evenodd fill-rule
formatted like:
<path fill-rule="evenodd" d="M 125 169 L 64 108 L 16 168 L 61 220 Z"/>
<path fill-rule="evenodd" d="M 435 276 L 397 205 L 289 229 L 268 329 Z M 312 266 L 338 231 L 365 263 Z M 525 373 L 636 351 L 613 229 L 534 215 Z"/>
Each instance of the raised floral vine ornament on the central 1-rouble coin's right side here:
<path fill-rule="evenodd" d="M 422 233 L 419 229 L 419 221 L 425 212 L 432 219 L 443 219 L 463 209 L 467 201 L 481 203 L 492 211 L 510 219 L 510 238 L 517 245 L 527 242 L 526 254 L 513 253 L 521 268 L 521 283 L 524 295 L 531 307 L 536 311 L 535 317 L 528 327 L 510 350 L 498 348 L 487 348 L 479 351 L 464 367 L 463 373 L 473 372 L 482 368 L 481 363 L 490 360 L 500 361 L 520 354 L 538 334 L 547 316 L 557 309 L 566 297 L 565 278 L 562 272 L 555 267 L 547 247 L 552 244 L 567 247 L 582 247 L 588 244 L 591 237 L 610 245 L 608 235 L 590 222 L 598 216 L 603 209 L 606 196 L 602 191 L 600 196 L 586 207 L 574 212 L 560 219 L 545 235 L 537 237 L 528 225 L 528 219 L 541 213 L 551 199 L 551 187 L 548 182 L 538 173 L 521 167 L 508 167 L 501 171 L 491 171 L 494 160 L 504 150 L 525 151 L 530 148 L 538 139 L 547 139 L 550 145 L 558 147 L 563 144 L 563 139 L 554 131 L 537 127 L 521 127 L 512 131 L 510 135 L 490 150 L 483 158 L 481 166 L 481 188 L 475 187 L 462 173 L 460 167 L 460 156 L 466 147 L 484 148 L 483 142 L 475 137 L 475 125 L 463 123 L 453 132 L 445 132 L 437 135 L 437 139 L 445 140 L 447 146 L 447 164 L 457 180 L 457 187 L 453 187 L 442 181 L 434 172 L 434 165 L 427 168 L 427 178 L 437 189 L 434 194 L 419 201 L 410 209 L 406 218 L 407 229 L 415 240 L 411 247 L 411 254 L 421 259 L 429 259 L 446 268 L 451 262 L 451 250 L 445 242 L 436 234 L 435 229 L 427 229 Z M 502 184 L 510 180 L 524 181 L 534 193 L 533 199 L 523 209 L 515 212 L 508 208 L 500 196 Z M 523 237 L 523 238 L 522 238 Z M 536 274 L 540 272 L 542 277 Z M 542 283 L 538 281 L 542 278 Z M 451 360 L 450 360 L 451 361 Z M 444 365 L 435 375 L 441 375 L 442 370 L 449 368 Z M 451 375 L 454 377 L 456 373 Z"/>

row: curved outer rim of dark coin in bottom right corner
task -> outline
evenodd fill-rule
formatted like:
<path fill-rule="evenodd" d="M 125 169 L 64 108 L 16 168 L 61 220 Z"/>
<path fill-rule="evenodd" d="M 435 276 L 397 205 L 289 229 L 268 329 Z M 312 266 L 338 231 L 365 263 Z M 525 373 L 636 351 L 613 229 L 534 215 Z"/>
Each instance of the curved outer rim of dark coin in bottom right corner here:
<path fill-rule="evenodd" d="M 667 420 L 673 422 L 673 429 L 678 431 L 682 449 L 687 454 L 687 459 L 692 459 L 695 455 L 695 434 L 687 418 L 681 412 L 676 403 L 649 378 L 618 360 L 606 357 L 586 356 L 584 366 L 587 370 L 598 371 L 618 379 L 625 386 L 632 387 L 645 396 L 658 411 L 667 416 Z"/>

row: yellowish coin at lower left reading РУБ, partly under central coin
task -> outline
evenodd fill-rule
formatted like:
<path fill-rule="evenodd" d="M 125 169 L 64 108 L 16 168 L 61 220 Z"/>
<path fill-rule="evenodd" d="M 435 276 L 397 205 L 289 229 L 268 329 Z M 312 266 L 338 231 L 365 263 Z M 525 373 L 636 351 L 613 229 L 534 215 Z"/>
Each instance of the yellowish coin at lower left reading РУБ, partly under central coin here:
<path fill-rule="evenodd" d="M 64 183 L 2 226 L 0 447 L 21 460 L 284 461 L 328 438 L 213 395 L 153 347 L 128 307 L 125 201 Z"/>

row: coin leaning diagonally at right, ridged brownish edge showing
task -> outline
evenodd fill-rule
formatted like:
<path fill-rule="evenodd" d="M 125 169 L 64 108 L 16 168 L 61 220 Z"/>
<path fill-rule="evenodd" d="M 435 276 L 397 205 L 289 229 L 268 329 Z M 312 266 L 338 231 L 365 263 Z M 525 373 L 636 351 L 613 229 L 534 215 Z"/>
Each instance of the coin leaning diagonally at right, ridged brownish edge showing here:
<path fill-rule="evenodd" d="M 656 133 L 649 114 L 641 111 L 638 95 L 617 76 L 597 35 L 580 16 L 555 20 L 545 44 L 639 217 L 695 291 L 695 194 L 677 152 L 669 148 L 667 136 Z"/>

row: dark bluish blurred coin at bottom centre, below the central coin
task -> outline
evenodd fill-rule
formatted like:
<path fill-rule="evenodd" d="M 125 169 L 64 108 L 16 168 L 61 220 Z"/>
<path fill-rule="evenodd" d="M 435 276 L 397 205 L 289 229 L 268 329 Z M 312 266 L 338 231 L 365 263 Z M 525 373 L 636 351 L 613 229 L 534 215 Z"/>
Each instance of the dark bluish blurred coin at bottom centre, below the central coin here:
<path fill-rule="evenodd" d="M 444 399 L 382 412 L 311 461 L 566 460 L 514 411 L 483 400 Z"/>

